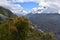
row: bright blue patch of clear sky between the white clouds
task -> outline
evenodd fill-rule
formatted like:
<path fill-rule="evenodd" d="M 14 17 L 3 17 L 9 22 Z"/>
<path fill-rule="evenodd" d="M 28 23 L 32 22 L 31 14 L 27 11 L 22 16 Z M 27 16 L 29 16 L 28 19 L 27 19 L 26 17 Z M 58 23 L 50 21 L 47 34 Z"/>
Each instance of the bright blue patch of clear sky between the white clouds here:
<path fill-rule="evenodd" d="M 29 11 L 32 8 L 39 7 L 39 4 L 36 2 L 22 2 L 20 5 L 23 7 L 24 10 Z"/>

